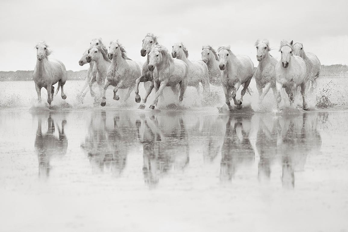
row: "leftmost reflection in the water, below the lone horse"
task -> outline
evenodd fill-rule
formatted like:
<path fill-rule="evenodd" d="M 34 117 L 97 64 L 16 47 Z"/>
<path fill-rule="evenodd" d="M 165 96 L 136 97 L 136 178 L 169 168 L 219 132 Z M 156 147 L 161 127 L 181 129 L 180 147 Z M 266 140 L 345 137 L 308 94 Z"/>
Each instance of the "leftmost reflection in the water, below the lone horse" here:
<path fill-rule="evenodd" d="M 49 176 L 50 159 L 54 156 L 61 157 L 66 154 L 68 149 L 68 139 L 64 134 L 66 120 L 62 120 L 61 128 L 57 124 L 58 137 L 55 135 L 55 125 L 51 113 L 47 119 L 47 133 L 42 133 L 42 119 L 38 119 L 38 129 L 35 138 L 35 152 L 38 154 L 39 175 Z"/>

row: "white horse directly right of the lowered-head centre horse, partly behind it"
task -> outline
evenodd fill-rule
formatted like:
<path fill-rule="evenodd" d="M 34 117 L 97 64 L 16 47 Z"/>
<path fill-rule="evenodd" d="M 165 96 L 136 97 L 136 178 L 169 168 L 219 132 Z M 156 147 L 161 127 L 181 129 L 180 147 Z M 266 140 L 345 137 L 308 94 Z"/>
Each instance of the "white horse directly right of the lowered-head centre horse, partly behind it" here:
<path fill-rule="evenodd" d="M 172 57 L 185 62 L 189 68 L 189 76 L 187 85 L 197 89 L 199 94 L 199 83 L 203 86 L 203 94 L 206 95 L 210 91 L 208 67 L 203 61 L 190 61 L 189 51 L 182 42 L 173 45 Z"/>

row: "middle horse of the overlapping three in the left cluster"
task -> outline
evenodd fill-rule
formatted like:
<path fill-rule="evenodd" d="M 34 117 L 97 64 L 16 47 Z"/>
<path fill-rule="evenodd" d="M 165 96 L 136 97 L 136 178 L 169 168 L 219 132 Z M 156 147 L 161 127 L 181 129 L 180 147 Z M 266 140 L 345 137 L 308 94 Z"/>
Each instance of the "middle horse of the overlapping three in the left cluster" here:
<path fill-rule="evenodd" d="M 109 59 L 109 58 L 108 58 Z M 101 87 L 104 87 L 104 82 L 106 78 L 106 72 L 108 71 L 108 68 L 110 66 L 110 62 L 106 61 L 104 58 L 103 50 L 99 47 L 93 47 L 92 49 L 88 50 L 88 56 L 86 57 L 86 61 L 88 63 L 94 62 L 93 69 L 95 68 L 97 70 L 97 77 L 98 80 L 90 80 L 89 81 L 89 89 L 90 89 L 90 95 L 95 96 L 94 91 L 92 90 L 92 85 L 95 81 L 97 81 L 98 85 Z"/>

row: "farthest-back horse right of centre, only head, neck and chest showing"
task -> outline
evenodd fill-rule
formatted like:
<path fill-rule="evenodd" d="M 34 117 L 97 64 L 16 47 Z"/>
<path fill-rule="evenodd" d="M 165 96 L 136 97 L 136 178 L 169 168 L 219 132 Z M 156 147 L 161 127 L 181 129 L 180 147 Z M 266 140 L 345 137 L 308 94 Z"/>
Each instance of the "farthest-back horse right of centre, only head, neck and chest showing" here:
<path fill-rule="evenodd" d="M 209 82 L 214 86 L 221 86 L 221 71 L 219 68 L 220 62 L 215 49 L 210 45 L 203 46 L 201 54 L 202 61 L 208 66 Z"/>

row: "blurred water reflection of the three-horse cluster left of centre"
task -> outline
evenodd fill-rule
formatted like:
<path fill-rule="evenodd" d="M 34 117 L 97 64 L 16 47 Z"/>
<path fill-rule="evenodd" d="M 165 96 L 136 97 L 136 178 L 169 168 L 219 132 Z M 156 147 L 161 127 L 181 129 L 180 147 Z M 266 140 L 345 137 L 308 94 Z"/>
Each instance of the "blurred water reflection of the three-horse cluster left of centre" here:
<path fill-rule="evenodd" d="M 89 158 L 93 171 L 110 171 L 119 176 L 126 167 L 129 147 L 136 140 L 135 125 L 122 113 L 113 117 L 112 125 L 108 125 L 107 121 L 105 111 L 101 115 L 93 113 L 81 148 Z"/>

